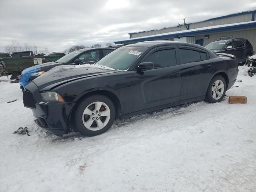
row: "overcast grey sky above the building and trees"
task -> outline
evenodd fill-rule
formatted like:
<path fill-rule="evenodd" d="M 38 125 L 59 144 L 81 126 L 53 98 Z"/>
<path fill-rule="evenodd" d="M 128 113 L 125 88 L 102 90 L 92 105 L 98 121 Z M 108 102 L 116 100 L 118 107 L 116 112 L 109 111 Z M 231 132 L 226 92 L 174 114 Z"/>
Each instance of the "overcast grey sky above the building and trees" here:
<path fill-rule="evenodd" d="M 105 45 L 129 32 L 175 26 L 256 7 L 255 0 L 0 0 L 0 51 L 17 41 L 63 51 Z"/>

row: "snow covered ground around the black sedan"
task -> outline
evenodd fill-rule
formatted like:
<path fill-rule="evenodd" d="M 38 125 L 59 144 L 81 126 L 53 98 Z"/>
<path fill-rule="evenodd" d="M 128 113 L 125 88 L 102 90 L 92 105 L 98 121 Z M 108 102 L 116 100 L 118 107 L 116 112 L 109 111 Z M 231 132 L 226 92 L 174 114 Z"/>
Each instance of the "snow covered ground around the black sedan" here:
<path fill-rule="evenodd" d="M 95 137 L 46 134 L 19 84 L 0 82 L 0 191 L 256 191 L 256 76 L 247 69 L 220 103 L 144 114 Z M 21 126 L 31 136 L 12 134 Z"/>

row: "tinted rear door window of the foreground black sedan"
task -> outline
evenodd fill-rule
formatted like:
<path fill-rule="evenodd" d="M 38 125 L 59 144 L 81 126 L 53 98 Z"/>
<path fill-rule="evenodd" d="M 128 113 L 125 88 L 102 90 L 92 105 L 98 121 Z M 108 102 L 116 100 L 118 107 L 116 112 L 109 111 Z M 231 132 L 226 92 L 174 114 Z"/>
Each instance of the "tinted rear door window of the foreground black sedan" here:
<path fill-rule="evenodd" d="M 196 62 L 200 60 L 201 56 L 199 51 L 180 48 L 180 64 Z"/>

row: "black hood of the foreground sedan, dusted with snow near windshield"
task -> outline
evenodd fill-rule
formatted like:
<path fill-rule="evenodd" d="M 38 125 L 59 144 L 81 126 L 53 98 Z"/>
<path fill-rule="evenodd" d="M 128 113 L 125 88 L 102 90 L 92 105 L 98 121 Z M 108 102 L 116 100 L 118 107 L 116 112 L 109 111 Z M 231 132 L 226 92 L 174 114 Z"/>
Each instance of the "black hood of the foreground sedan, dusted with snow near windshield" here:
<path fill-rule="evenodd" d="M 33 82 L 36 84 L 36 86 L 38 86 L 39 90 L 42 90 L 46 87 L 46 90 L 50 90 L 52 87 L 56 87 L 60 84 L 64 84 L 73 80 L 116 72 L 118 71 L 100 67 L 98 68 L 95 65 L 90 64 L 85 64 L 81 66 L 56 66 L 45 74 L 34 79 Z"/>

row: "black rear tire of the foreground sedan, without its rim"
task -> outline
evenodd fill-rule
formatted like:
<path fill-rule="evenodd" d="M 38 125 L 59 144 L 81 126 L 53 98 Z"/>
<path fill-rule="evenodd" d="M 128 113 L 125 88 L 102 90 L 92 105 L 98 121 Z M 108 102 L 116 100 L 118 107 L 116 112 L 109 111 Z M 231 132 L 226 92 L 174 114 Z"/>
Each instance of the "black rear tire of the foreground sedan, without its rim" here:
<path fill-rule="evenodd" d="M 219 99 L 214 99 L 213 96 L 212 96 L 212 86 L 214 85 L 214 83 L 217 81 L 217 80 L 221 80 L 224 84 L 224 92 L 222 94 L 222 96 L 219 98 Z M 226 93 L 226 90 L 227 90 L 227 87 L 226 87 L 226 80 L 223 76 L 214 76 L 208 86 L 208 89 L 207 89 L 207 92 L 206 92 L 206 98 L 205 98 L 205 101 L 208 102 L 208 103 L 216 103 L 216 102 L 220 102 L 223 97 L 225 96 L 225 93 Z"/>

